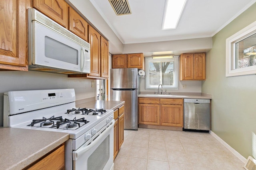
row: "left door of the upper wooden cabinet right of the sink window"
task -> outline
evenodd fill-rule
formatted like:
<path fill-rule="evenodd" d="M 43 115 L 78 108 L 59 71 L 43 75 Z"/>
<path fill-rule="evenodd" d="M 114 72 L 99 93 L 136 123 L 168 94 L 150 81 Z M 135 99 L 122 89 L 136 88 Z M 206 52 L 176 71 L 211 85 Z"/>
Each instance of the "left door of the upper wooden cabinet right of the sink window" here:
<path fill-rule="evenodd" d="M 180 55 L 180 80 L 194 79 L 194 54 Z"/>

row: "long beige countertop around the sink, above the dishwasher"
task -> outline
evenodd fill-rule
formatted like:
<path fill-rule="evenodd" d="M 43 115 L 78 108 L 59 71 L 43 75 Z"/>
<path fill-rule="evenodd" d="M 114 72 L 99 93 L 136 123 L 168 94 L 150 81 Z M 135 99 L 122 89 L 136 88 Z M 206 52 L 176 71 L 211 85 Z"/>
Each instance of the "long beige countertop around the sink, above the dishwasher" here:
<path fill-rule="evenodd" d="M 204 93 L 182 94 L 139 94 L 139 98 L 183 98 L 183 99 L 212 99 L 212 95 Z"/>

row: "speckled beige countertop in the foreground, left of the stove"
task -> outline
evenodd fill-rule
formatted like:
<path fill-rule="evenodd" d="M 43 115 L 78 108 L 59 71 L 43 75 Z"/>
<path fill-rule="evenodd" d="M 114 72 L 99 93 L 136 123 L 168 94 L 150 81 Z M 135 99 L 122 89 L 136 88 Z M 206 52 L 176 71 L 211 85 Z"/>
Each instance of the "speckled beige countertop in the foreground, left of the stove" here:
<path fill-rule="evenodd" d="M 26 168 L 68 139 L 68 133 L 0 127 L 0 169 Z"/>

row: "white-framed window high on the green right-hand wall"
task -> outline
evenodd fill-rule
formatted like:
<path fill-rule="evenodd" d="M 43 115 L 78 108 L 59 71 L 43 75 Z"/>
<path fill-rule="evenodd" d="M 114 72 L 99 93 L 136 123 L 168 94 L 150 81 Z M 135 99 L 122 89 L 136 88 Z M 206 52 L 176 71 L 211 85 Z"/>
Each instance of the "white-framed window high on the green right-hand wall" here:
<path fill-rule="evenodd" d="M 226 76 L 256 74 L 256 21 L 226 39 Z"/>

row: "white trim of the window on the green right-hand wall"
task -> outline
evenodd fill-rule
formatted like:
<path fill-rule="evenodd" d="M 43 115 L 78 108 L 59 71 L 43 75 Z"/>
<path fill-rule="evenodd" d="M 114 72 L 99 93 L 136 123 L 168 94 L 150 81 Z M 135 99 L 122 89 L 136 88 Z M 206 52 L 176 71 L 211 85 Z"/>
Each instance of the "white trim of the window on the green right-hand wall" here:
<path fill-rule="evenodd" d="M 256 33 L 256 21 L 226 39 L 226 77 L 256 74 L 256 66 L 236 68 L 236 43 Z"/>

